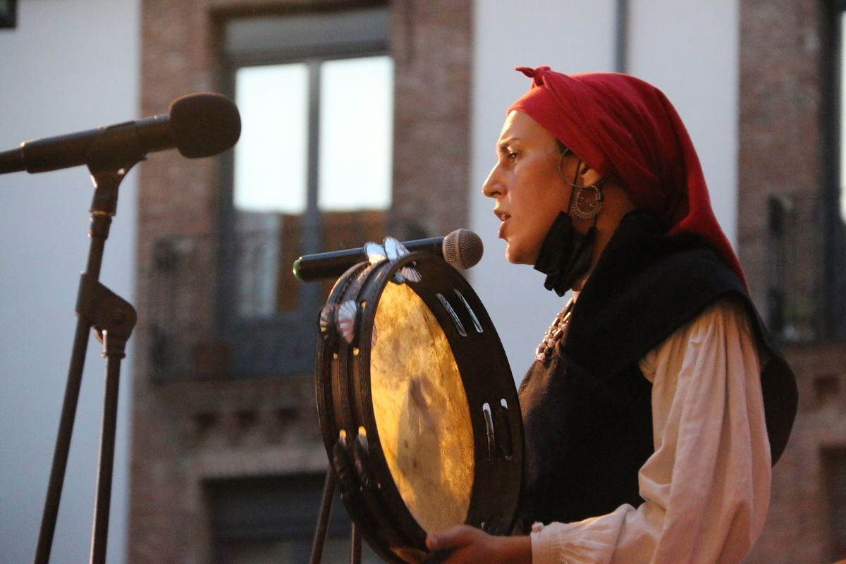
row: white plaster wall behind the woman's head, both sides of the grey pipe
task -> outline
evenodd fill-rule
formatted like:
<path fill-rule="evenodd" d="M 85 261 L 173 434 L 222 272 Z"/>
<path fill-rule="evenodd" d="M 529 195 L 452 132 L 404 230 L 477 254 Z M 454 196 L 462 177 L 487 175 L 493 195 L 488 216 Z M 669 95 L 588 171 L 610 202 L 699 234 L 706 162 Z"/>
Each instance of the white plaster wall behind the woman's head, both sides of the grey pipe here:
<path fill-rule="evenodd" d="M 481 183 L 494 162 L 506 107 L 528 90 L 516 66 L 548 64 L 577 73 L 614 65 L 614 0 L 479 0 L 471 134 L 470 228 L 486 253 L 470 271 L 519 381 L 563 298 L 530 266 L 511 266 L 497 239 L 493 202 Z M 629 73 L 667 93 L 688 124 L 718 219 L 733 238 L 737 159 L 737 0 L 629 0 Z"/>

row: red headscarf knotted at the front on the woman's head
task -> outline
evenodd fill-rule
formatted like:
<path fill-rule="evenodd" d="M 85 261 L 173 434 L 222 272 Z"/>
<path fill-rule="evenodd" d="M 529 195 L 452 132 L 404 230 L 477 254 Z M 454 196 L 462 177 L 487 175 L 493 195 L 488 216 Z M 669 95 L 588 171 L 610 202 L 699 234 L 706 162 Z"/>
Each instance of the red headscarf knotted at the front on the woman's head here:
<path fill-rule="evenodd" d="M 620 184 L 668 233 L 694 233 L 745 283 L 711 210 L 687 129 L 661 90 L 627 74 L 568 75 L 547 66 L 517 70 L 534 81 L 508 112 L 527 113 L 588 166 Z"/>

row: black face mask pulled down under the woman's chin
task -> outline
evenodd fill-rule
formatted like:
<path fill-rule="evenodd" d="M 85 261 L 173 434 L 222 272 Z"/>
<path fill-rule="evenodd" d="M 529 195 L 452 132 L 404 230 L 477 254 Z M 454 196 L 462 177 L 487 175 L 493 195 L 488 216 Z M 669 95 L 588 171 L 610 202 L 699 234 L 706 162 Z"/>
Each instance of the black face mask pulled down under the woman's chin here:
<path fill-rule="evenodd" d="M 559 296 L 573 287 L 591 266 L 596 225 L 582 234 L 573 227 L 572 218 L 563 211 L 558 214 L 537 255 L 535 270 L 547 275 L 543 283 L 547 290 Z"/>

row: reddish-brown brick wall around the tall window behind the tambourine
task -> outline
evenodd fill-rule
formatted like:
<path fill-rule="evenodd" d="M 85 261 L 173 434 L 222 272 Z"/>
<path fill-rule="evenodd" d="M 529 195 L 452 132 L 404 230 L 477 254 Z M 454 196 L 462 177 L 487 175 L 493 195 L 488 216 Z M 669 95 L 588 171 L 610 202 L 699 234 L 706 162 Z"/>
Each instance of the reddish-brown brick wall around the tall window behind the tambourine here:
<path fill-rule="evenodd" d="M 370 4 L 144 0 L 140 111 L 166 112 L 178 96 L 222 90 L 219 41 L 228 17 Z M 396 118 L 395 204 L 388 225 L 389 234 L 399 238 L 448 233 L 466 222 L 470 6 L 470 0 L 390 3 Z M 127 557 L 134 564 L 211 561 L 205 480 L 327 468 L 312 376 L 158 382 L 151 377 L 156 241 L 194 240 L 203 242 L 203 249 L 214 248 L 224 159 L 190 161 L 171 151 L 157 157 L 154 166 L 140 165 Z M 203 249 L 185 250 L 205 264 L 195 267 L 195 293 L 179 301 L 173 315 L 196 338 L 213 342 L 217 263 L 216 255 Z"/>

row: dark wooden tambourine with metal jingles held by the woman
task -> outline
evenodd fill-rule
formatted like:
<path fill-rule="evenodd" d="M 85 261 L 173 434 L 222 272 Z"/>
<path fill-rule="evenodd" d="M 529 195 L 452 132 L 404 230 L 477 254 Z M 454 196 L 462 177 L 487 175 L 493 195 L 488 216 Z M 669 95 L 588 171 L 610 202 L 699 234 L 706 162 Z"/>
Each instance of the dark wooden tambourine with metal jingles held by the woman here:
<path fill-rule="evenodd" d="M 371 262 L 339 278 L 320 312 L 321 432 L 364 539 L 387 561 L 423 562 L 427 533 L 461 523 L 511 532 L 519 403 L 502 343 L 459 271 L 393 239 L 369 245 Z"/>

